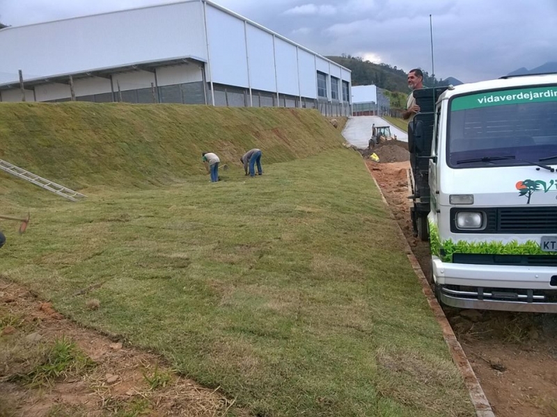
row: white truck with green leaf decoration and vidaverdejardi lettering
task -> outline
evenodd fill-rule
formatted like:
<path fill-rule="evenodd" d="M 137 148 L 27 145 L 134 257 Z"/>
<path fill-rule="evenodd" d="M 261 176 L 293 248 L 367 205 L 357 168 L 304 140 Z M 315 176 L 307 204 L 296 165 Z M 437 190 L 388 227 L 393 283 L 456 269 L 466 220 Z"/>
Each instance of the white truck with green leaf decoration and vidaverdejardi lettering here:
<path fill-rule="evenodd" d="M 439 301 L 557 312 L 557 74 L 414 97 L 411 215 Z"/>

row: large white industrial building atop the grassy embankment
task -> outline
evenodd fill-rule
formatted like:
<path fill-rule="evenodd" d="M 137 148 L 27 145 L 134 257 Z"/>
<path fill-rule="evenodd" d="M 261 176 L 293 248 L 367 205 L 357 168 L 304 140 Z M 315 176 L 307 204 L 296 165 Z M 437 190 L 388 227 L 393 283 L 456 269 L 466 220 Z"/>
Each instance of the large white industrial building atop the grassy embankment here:
<path fill-rule="evenodd" d="M 306 107 L 350 115 L 350 70 L 206 0 L 3 28 L 0 50 L 0 101 Z"/>

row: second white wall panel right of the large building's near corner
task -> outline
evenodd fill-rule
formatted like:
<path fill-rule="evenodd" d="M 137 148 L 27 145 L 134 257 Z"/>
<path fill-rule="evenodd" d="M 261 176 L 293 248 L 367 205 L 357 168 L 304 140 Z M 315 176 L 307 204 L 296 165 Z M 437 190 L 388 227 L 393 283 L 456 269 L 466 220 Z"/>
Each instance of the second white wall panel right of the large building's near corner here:
<path fill-rule="evenodd" d="M 273 35 L 248 24 L 247 39 L 251 88 L 276 91 Z"/>

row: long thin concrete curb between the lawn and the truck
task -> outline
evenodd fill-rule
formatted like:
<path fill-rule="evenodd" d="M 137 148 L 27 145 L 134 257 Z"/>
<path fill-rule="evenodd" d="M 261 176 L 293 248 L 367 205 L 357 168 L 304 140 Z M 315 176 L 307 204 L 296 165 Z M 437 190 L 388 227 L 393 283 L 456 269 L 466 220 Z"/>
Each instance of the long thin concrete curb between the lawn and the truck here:
<path fill-rule="evenodd" d="M 402 238 L 402 242 L 405 245 L 405 251 L 410 261 L 410 265 L 412 266 L 412 269 L 416 273 L 416 276 L 418 277 L 418 280 L 422 285 L 422 291 L 425 295 L 425 298 L 427 299 L 427 303 L 430 304 L 430 308 L 433 311 L 433 315 L 435 316 L 437 322 L 439 323 L 439 326 L 441 327 L 441 332 L 443 332 L 443 338 L 445 339 L 445 343 L 447 343 L 448 345 L 450 356 L 453 357 L 453 361 L 455 362 L 456 366 L 460 370 L 460 373 L 462 374 L 462 378 L 464 379 L 464 385 L 466 385 L 466 388 L 468 389 L 470 395 L 470 400 L 472 401 L 472 404 L 476 409 L 476 416 L 495 417 L 495 414 L 492 411 L 492 407 L 491 405 L 489 405 L 489 401 L 487 401 L 487 397 L 483 392 L 482 386 L 480 386 L 480 382 L 478 381 L 478 378 L 476 377 L 476 374 L 474 373 L 472 366 L 468 361 L 468 358 L 466 358 L 466 354 L 464 353 L 464 350 L 462 350 L 462 346 L 457 341 L 455 333 L 453 332 L 453 329 L 450 327 L 450 324 L 445 316 L 443 309 L 441 309 L 441 305 L 439 305 L 439 302 L 437 302 L 437 298 L 435 298 L 435 295 L 433 294 L 430 284 L 427 282 L 425 275 L 423 275 L 423 271 L 420 267 L 420 264 L 418 263 L 418 259 L 416 259 L 416 256 L 414 256 L 414 252 L 412 252 L 411 247 L 408 244 L 408 240 L 406 240 L 405 234 L 402 232 L 402 229 L 400 229 L 400 225 L 396 221 L 395 216 L 393 215 L 393 212 L 389 207 L 389 203 L 387 202 L 385 196 L 383 195 L 381 187 L 379 187 L 379 184 L 375 180 L 375 177 L 373 177 L 370 167 L 368 167 L 366 161 L 363 161 L 363 163 L 364 165 L 366 165 L 366 168 L 370 173 L 370 176 L 373 179 L 375 186 L 377 186 L 377 190 L 379 190 L 381 199 L 383 200 L 387 208 L 389 208 L 390 217 L 395 221 L 395 224 L 397 225 L 398 234 L 400 235 L 400 238 Z"/>

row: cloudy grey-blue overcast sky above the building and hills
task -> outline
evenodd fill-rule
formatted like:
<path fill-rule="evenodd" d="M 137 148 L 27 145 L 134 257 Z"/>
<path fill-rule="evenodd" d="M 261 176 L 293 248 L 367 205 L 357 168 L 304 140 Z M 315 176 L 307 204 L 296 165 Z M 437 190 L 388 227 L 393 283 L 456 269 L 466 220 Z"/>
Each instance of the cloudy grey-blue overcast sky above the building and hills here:
<path fill-rule="evenodd" d="M 46 22 L 171 0 L 0 0 L 0 22 Z M 438 78 L 493 79 L 557 61 L 557 0 L 217 0 L 321 55 L 350 54 Z"/>

